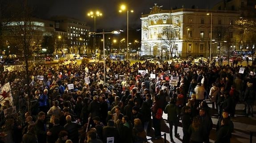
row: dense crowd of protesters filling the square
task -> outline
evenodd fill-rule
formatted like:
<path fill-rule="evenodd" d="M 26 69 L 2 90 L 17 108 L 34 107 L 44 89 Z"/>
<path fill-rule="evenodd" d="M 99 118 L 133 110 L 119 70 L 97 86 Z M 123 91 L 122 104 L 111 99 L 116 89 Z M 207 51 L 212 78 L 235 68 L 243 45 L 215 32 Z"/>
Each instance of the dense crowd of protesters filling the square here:
<path fill-rule="evenodd" d="M 153 137 L 161 138 L 164 112 L 171 142 L 180 138 L 177 128 L 181 126 L 183 143 L 209 143 L 211 116 L 216 111 L 215 143 L 229 143 L 236 104 L 244 104 L 244 115 L 253 116 L 255 64 L 245 66 L 244 73 L 239 73 L 242 66 L 234 65 L 117 61 L 106 63 L 104 75 L 103 67 L 102 62 L 37 66 L 29 86 L 20 84 L 24 79 L 15 76 L 19 71 L 3 72 L 5 82 L 11 83 L 13 100 L 5 100 L 1 107 L 0 142 L 146 142 L 152 128 Z M 177 85 L 170 85 L 172 77 L 179 78 Z M 4 114 L 12 107 L 16 116 Z"/>

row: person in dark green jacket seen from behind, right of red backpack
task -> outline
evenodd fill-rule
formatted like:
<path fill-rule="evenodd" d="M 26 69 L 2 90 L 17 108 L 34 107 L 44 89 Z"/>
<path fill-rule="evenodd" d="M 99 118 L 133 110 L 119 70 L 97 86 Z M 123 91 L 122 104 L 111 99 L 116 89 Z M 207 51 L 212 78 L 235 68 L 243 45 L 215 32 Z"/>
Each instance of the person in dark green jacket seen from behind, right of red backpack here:
<path fill-rule="evenodd" d="M 167 106 L 164 109 L 164 113 L 166 113 L 168 115 L 167 119 L 169 122 L 170 139 L 171 139 L 171 142 L 174 142 L 173 136 L 172 136 L 173 125 L 174 125 L 175 137 L 179 137 L 179 134 L 177 133 L 179 118 L 178 118 L 177 107 L 175 105 L 174 98 L 171 98 L 170 104 L 167 104 Z"/>

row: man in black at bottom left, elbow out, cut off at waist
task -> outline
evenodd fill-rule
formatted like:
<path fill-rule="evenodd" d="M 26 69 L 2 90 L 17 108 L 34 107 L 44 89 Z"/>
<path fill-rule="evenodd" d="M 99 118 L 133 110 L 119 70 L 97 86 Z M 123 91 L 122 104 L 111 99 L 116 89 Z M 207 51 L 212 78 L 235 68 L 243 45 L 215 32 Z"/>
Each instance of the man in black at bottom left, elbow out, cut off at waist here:
<path fill-rule="evenodd" d="M 58 139 L 58 135 L 61 131 L 64 131 L 65 128 L 60 125 L 60 120 L 58 118 L 54 118 L 53 120 L 53 128 L 47 131 L 47 141 L 48 143 L 55 143 Z"/>

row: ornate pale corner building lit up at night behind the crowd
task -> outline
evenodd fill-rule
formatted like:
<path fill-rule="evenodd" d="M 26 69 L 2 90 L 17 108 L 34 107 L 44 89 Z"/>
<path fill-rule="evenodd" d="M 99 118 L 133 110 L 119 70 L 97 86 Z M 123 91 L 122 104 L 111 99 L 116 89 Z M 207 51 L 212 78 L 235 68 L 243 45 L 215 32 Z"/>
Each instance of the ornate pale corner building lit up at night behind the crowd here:
<path fill-rule="evenodd" d="M 247 0 L 228 1 L 241 1 L 241 3 L 232 3 L 232 6 L 227 7 L 228 4 L 220 2 L 213 10 L 194 8 L 163 10 L 162 6 L 155 4 L 150 8 L 150 14 L 141 17 L 140 54 L 163 58 L 172 54 L 186 58 L 209 57 L 211 52 L 212 56 L 217 56 L 229 52 L 223 47 L 223 41 L 227 39 L 229 45 L 233 47 L 232 50 L 239 50 L 241 33 L 235 28 L 235 24 L 241 17 L 241 5 L 247 5 L 242 2 Z M 253 10 L 255 11 L 255 8 Z"/>

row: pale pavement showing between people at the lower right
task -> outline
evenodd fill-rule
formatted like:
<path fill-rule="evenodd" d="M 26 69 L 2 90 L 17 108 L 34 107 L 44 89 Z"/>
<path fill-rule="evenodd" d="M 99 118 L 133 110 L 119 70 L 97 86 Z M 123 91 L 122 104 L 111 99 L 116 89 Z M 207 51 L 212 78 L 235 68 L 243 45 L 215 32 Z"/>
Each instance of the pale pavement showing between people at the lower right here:
<path fill-rule="evenodd" d="M 209 107 L 211 107 L 211 104 L 208 104 Z M 246 130 L 246 128 L 256 128 L 256 117 L 245 117 L 244 116 L 244 104 L 238 104 L 236 106 L 236 115 L 234 118 L 231 120 L 234 123 L 234 132 L 232 132 L 232 138 L 231 138 L 231 143 L 250 143 L 250 133 L 249 131 Z M 256 106 L 254 105 L 253 111 L 256 111 Z M 213 122 L 213 129 L 211 130 L 210 134 L 210 143 L 214 143 L 215 136 L 216 136 L 216 130 L 215 130 L 215 125 L 218 122 L 218 118 L 216 117 L 217 115 L 215 114 L 215 111 L 212 111 L 212 122 Z M 255 112 L 254 112 L 254 116 Z M 167 135 L 167 143 L 170 142 L 170 134 L 169 134 L 169 124 L 167 121 L 167 114 L 163 114 L 163 121 L 161 124 L 161 130 L 162 130 L 162 135 L 166 133 Z M 180 138 L 177 139 L 174 137 L 174 127 L 173 127 L 173 139 L 175 143 L 182 143 L 182 138 L 183 138 L 183 131 L 181 127 L 181 120 L 180 124 L 178 127 L 178 133 L 180 135 Z M 153 128 L 151 131 L 148 133 L 147 139 L 150 139 L 151 137 L 154 136 L 154 131 Z M 148 141 L 149 143 L 164 143 L 164 139 L 151 139 Z M 256 143 L 256 134 L 253 135 L 252 138 L 252 143 Z"/>

